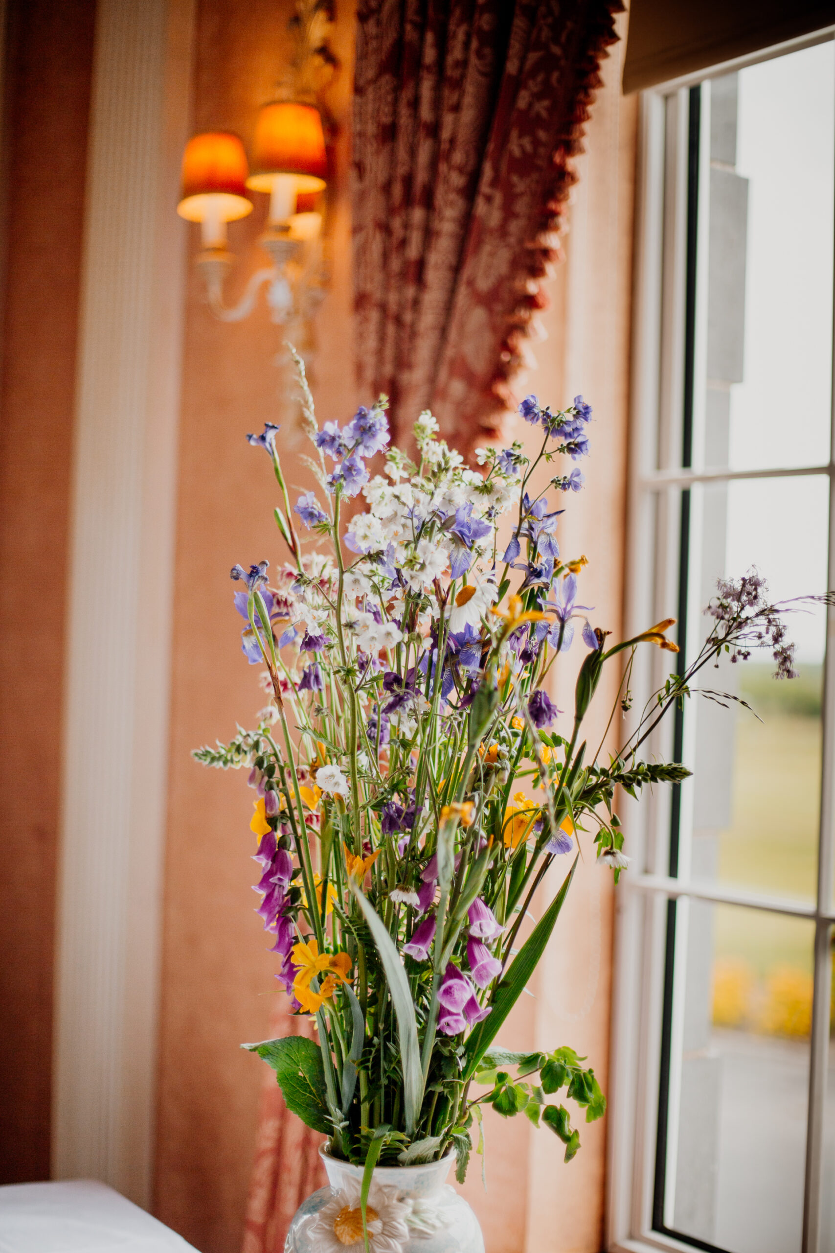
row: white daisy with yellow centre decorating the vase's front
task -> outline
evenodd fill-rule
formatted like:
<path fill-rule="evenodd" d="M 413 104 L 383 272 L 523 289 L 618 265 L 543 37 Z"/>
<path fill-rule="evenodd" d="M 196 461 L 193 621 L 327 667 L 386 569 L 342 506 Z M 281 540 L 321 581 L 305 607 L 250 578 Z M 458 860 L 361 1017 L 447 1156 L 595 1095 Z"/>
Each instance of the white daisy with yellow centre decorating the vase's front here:
<path fill-rule="evenodd" d="M 358 1179 L 347 1178 L 339 1192 L 313 1215 L 307 1228 L 310 1248 L 317 1253 L 363 1253 L 361 1185 Z M 406 1219 L 411 1207 L 397 1199 L 393 1188 L 372 1183 L 366 1207 L 368 1243 L 373 1253 L 403 1253 L 409 1238 Z"/>

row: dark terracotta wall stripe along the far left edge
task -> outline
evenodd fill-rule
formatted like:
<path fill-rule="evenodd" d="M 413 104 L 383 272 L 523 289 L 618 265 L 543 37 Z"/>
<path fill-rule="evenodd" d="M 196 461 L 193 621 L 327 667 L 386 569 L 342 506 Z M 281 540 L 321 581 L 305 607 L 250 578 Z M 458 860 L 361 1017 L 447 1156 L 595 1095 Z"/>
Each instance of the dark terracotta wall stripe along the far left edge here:
<path fill-rule="evenodd" d="M 69 466 L 94 0 L 11 0 L 0 271 L 0 1183 L 49 1178 Z"/>

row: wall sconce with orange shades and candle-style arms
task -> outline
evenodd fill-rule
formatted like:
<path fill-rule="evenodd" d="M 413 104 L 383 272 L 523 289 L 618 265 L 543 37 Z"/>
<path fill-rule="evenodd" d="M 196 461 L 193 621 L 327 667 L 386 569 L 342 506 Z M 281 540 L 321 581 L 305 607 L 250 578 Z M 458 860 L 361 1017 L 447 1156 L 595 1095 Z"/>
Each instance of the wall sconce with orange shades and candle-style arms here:
<path fill-rule="evenodd" d="M 215 317 L 224 322 L 245 318 L 265 286 L 273 321 L 292 325 L 294 338 L 303 345 L 327 284 L 320 237 L 328 157 L 318 105 L 336 65 L 327 46 L 332 25 L 327 0 L 295 0 L 289 25 L 294 54 L 275 98 L 258 113 L 252 164 L 238 135 L 194 135 L 183 155 L 177 212 L 200 223 L 203 251 L 195 264 Z M 272 263 L 255 271 L 238 304 L 227 307 L 223 288 L 234 263 L 227 223 L 252 213 L 252 192 L 269 195 L 267 229 L 258 242 Z"/>

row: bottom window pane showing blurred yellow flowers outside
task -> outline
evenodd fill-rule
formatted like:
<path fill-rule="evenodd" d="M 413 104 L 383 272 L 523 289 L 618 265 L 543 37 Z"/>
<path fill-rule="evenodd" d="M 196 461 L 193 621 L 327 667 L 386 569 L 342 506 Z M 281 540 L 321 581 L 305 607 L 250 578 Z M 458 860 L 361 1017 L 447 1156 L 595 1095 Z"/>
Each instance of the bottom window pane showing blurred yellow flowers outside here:
<path fill-rule="evenodd" d="M 690 900 L 675 926 L 663 1225 L 799 1253 L 814 925 Z"/>

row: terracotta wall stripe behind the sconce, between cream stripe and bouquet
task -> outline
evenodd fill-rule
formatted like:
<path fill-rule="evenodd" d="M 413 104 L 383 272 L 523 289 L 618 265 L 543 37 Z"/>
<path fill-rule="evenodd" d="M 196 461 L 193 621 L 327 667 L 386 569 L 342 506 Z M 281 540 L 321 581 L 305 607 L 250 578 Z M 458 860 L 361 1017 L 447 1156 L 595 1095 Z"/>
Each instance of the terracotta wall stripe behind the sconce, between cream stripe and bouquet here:
<path fill-rule="evenodd" d="M 195 45 L 195 130 L 224 128 L 249 140 L 288 54 L 289 0 L 200 0 Z M 317 318 L 320 352 L 313 390 L 320 420 L 356 408 L 351 337 L 348 133 L 353 11 L 337 5 L 332 46 L 341 60 L 328 104 L 339 124 L 330 183 L 330 292 Z M 265 263 L 255 241 L 265 197 L 234 223 L 235 298 Z M 194 234 L 197 232 L 194 231 Z M 193 239 L 197 248 L 197 239 Z M 188 289 L 180 442 L 173 648 L 170 797 L 155 1213 L 202 1253 L 237 1253 L 253 1162 L 262 1064 L 240 1051 L 260 1040 L 277 1002 L 252 892 L 250 797 L 239 773 L 205 771 L 190 749 L 234 734 L 263 707 L 258 668 L 240 653 L 229 569 L 283 560 L 272 523 L 275 481 L 248 431 L 280 417 L 282 376 L 273 358 L 282 330 L 263 303 L 242 323 L 215 321 L 198 276 Z M 293 444 L 292 422 L 280 435 Z M 293 487 L 307 487 L 295 461 Z M 259 699 L 262 697 L 262 699 Z M 283 997 L 283 992 L 280 992 Z"/>

